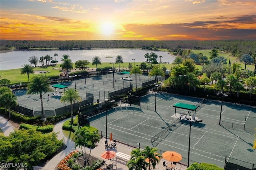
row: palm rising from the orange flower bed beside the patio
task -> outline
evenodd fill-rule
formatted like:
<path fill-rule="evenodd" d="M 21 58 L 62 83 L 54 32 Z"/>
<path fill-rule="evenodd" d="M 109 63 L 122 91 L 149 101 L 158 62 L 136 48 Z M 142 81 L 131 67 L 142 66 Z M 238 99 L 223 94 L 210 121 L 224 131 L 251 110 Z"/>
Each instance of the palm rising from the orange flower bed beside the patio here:
<path fill-rule="evenodd" d="M 86 162 L 88 162 L 91 154 L 92 147 L 95 147 L 95 143 L 100 141 L 100 136 L 98 134 L 98 130 L 91 130 L 88 127 L 84 126 L 82 128 L 78 128 L 75 132 L 76 134 L 76 147 L 79 147 L 83 152 L 84 158 L 84 167 L 86 166 Z M 90 146 L 90 153 L 88 158 L 86 158 L 86 147 Z M 84 150 L 83 150 L 84 149 Z M 88 162 L 89 163 L 89 162 Z"/>

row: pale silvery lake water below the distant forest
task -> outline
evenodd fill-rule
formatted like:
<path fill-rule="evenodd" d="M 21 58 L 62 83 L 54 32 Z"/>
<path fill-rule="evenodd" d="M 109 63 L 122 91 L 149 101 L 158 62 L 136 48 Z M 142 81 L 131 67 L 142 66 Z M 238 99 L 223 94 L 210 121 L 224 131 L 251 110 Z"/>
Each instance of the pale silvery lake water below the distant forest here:
<path fill-rule="evenodd" d="M 146 53 L 156 53 L 158 56 L 162 55 L 162 62 L 174 62 L 174 56 L 168 54 L 168 52 L 162 51 L 146 51 L 140 49 L 95 49 L 95 50 L 70 50 L 70 51 L 12 51 L 8 53 L 0 54 L 0 70 L 9 70 L 15 68 L 21 68 L 23 64 L 30 64 L 28 62 L 29 57 L 36 56 L 38 59 L 42 56 L 50 55 L 54 60 L 54 54 L 57 53 L 57 61 L 62 59 L 62 55 L 66 54 L 70 56 L 70 59 L 73 63 L 78 60 L 88 60 L 92 63 L 92 58 L 95 56 L 100 57 L 102 63 L 114 63 L 116 56 L 121 55 L 124 59 L 124 62 L 143 62 L 146 61 L 144 55 Z M 112 58 L 106 58 L 112 57 Z M 158 58 L 160 61 L 160 58 Z M 38 63 L 38 65 L 41 65 Z"/>

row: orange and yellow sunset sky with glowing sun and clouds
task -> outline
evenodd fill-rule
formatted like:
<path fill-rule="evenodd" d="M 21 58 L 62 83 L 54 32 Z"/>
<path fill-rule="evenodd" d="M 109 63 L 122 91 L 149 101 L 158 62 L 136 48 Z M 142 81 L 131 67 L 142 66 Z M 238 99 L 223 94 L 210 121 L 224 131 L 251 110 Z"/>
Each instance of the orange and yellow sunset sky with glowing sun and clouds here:
<path fill-rule="evenodd" d="M 0 0 L 0 39 L 256 40 L 256 0 Z"/>

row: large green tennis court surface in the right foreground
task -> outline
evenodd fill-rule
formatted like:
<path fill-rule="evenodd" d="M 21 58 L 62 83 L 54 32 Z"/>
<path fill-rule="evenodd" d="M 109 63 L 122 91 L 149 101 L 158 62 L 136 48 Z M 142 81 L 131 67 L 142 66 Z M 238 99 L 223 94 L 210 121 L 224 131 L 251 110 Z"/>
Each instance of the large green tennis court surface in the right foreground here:
<path fill-rule="evenodd" d="M 161 152 L 176 151 L 182 154 L 181 162 L 187 163 L 190 123 L 178 119 L 179 115 L 174 114 L 173 105 L 197 105 L 200 101 L 200 98 L 158 93 L 155 112 L 155 94 L 146 95 L 141 98 L 141 106 L 132 105 L 133 107 L 108 111 L 108 135 L 112 132 L 116 140 L 125 143 L 128 141 L 135 147 L 148 145 Z M 198 105 L 196 117 L 203 121 L 191 124 L 190 164 L 208 162 L 224 168 L 226 156 L 256 163 L 256 152 L 252 150 L 256 131 L 251 130 L 256 128 L 256 108 L 223 103 L 223 122 L 220 126 L 220 106 L 219 101 L 208 100 Z M 188 111 L 177 108 L 176 113 L 179 112 Z M 249 116 L 247 120 L 245 116 Z M 97 127 L 105 136 L 105 121 L 105 114 L 98 115 L 90 120 L 90 125 Z M 246 125 L 250 127 L 250 131 L 244 130 L 245 121 L 249 122 Z"/>

